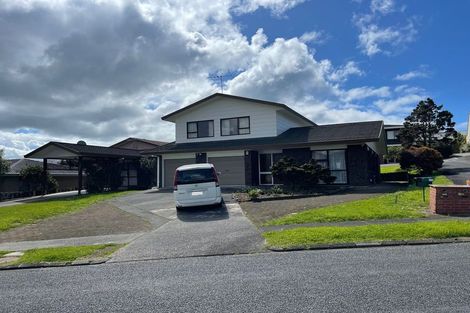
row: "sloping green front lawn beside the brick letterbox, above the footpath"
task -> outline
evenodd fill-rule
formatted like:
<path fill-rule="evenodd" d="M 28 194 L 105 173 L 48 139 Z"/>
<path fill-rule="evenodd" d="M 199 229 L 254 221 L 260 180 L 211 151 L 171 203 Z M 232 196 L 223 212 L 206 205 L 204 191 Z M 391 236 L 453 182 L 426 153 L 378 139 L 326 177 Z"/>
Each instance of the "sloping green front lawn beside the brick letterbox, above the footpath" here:
<path fill-rule="evenodd" d="M 434 183 L 452 184 L 445 176 L 435 177 Z M 429 199 L 429 190 L 426 193 Z M 428 201 L 423 202 L 422 189 L 410 186 L 406 191 L 289 214 L 264 225 L 417 218 L 426 217 L 427 208 Z"/>

